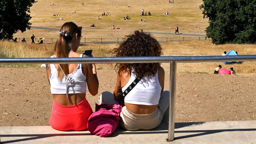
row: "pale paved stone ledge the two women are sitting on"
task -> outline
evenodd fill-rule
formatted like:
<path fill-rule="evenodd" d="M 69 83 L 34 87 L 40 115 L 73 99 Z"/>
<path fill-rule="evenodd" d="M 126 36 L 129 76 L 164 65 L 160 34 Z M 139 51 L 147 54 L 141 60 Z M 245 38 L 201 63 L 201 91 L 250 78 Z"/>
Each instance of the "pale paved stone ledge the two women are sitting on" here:
<path fill-rule="evenodd" d="M 167 142 L 168 124 L 147 131 L 117 129 L 101 138 L 89 131 L 58 131 L 50 126 L 0 127 L 1 143 L 243 143 L 256 144 L 256 121 L 175 123 L 175 140 Z"/>

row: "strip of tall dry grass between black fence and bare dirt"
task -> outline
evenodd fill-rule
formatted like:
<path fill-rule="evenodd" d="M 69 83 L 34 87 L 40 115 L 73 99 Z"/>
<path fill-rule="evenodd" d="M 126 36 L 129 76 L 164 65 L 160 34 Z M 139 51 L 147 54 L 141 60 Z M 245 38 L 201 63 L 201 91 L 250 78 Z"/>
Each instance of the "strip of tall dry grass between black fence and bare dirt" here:
<path fill-rule="evenodd" d="M 222 55 L 224 51 L 238 51 L 238 55 L 256 55 L 256 45 L 225 44 L 213 45 L 210 41 L 185 41 L 161 43 L 163 56 L 214 56 Z M 109 51 L 118 44 L 82 44 L 78 53 L 93 50 L 94 57 L 114 56 Z M 54 44 L 24 44 L 10 41 L 0 41 L 0 57 L 50 57 L 53 55 Z M 177 72 L 213 73 L 214 69 L 222 65 L 223 68 L 233 67 L 239 75 L 256 74 L 256 62 L 248 61 L 243 64 L 224 65 L 222 62 L 178 63 Z M 40 65 L 2 65 L 2 67 L 39 67 Z M 162 67 L 169 72 L 169 64 L 162 63 Z M 114 69 L 111 64 L 97 64 L 98 69 Z"/>

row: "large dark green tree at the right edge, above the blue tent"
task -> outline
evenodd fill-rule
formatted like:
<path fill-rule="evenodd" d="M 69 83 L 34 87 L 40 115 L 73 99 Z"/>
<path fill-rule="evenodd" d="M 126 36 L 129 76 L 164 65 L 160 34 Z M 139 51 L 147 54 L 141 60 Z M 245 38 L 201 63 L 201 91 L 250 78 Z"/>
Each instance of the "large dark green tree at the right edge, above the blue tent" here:
<path fill-rule="evenodd" d="M 203 0 L 209 18 L 206 37 L 213 44 L 256 43 L 256 0 Z"/>

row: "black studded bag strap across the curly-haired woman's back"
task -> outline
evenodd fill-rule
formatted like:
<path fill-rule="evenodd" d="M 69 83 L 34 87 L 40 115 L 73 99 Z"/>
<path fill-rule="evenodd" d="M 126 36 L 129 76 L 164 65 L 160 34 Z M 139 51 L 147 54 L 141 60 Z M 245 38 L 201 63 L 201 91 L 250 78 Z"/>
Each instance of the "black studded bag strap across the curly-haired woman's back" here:
<path fill-rule="evenodd" d="M 136 77 L 135 80 L 130 84 L 129 87 L 123 92 L 122 89 L 118 93 L 117 98 L 118 98 L 118 103 L 121 106 L 124 106 L 124 98 L 125 96 L 136 86 L 136 84 L 141 80 L 142 77 Z"/>

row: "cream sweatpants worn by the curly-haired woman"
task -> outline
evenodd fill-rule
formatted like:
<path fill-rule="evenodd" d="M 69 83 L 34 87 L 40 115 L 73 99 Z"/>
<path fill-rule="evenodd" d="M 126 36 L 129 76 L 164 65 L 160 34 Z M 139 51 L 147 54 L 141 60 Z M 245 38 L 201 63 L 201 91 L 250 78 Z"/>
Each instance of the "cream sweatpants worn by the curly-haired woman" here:
<path fill-rule="evenodd" d="M 103 92 L 99 96 L 99 104 L 118 104 L 113 93 Z M 134 114 L 126 106 L 120 114 L 120 125 L 126 130 L 150 130 L 158 127 L 161 121 L 168 122 L 169 118 L 169 91 L 164 91 L 157 108 L 150 114 Z"/>

